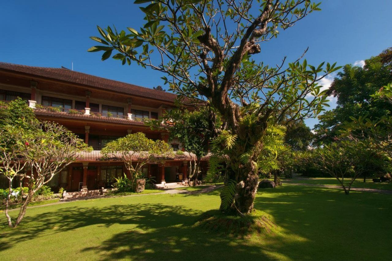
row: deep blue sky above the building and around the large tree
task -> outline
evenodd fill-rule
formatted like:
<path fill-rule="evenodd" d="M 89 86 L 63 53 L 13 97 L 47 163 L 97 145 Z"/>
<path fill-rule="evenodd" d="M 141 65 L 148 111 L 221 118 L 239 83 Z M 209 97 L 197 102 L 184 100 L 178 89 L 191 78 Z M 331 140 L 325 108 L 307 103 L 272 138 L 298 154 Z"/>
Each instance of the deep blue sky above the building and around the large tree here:
<path fill-rule="evenodd" d="M 3 1 L 0 4 L 0 61 L 43 67 L 68 67 L 144 87 L 162 85 L 163 75 L 142 67 L 122 66 L 87 53 L 98 36 L 96 25 L 118 29 L 140 27 L 144 20 L 134 1 Z M 392 46 L 390 0 L 324 0 L 322 11 L 310 14 L 277 39 L 261 45 L 256 60 L 276 64 L 294 60 L 309 47 L 308 64 L 354 64 Z M 333 78 L 323 82 L 328 86 Z M 165 87 L 165 86 L 164 86 Z M 334 100 L 331 100 L 334 107 Z M 306 123 L 313 127 L 316 119 Z"/>

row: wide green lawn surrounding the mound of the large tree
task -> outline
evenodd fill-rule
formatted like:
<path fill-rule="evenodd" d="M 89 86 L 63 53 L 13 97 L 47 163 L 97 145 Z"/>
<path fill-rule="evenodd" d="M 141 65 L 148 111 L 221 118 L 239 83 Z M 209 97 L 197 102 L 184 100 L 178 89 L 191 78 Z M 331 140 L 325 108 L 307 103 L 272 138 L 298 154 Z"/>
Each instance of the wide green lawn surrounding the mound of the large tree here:
<path fill-rule="evenodd" d="M 275 226 L 249 238 L 195 226 L 219 191 L 73 201 L 0 226 L 2 260 L 387 260 L 392 195 L 284 185 L 258 192 Z M 17 211 L 11 212 L 13 216 Z M 389 257 L 388 257 L 389 256 Z"/>

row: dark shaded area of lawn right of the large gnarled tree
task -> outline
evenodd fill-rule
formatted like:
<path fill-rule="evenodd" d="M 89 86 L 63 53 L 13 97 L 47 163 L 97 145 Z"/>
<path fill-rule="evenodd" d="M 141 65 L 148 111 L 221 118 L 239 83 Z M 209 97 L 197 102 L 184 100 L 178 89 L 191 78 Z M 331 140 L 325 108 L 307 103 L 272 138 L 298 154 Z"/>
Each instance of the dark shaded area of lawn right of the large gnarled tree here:
<path fill-rule="evenodd" d="M 391 199 L 371 192 L 351 191 L 347 196 L 341 188 L 283 186 L 259 190 L 254 207 L 273 216 L 286 233 L 307 239 L 306 244 L 276 245 L 276 251 L 290 253 L 292 259 L 341 259 L 343 255 L 367 260 L 388 256 L 387 231 L 392 232 L 392 226 L 377 224 L 392 215 Z M 377 254 L 371 249 L 377 249 Z"/>

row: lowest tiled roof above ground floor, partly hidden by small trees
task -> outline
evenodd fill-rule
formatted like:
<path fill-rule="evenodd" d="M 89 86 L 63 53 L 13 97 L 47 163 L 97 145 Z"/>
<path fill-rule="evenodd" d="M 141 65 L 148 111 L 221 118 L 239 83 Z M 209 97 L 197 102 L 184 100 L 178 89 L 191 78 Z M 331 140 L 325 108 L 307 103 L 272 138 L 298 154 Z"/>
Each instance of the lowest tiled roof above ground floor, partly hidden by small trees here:
<path fill-rule="evenodd" d="M 207 154 L 207 156 L 201 158 L 201 160 L 208 160 L 210 156 L 210 153 Z M 80 153 L 80 155 L 78 156 L 78 160 L 77 161 L 120 161 L 120 154 L 118 154 L 117 158 L 110 158 L 110 159 L 103 159 L 103 155 L 101 154 L 100 150 L 93 150 L 91 152 L 82 152 Z M 140 156 L 139 153 L 135 153 L 132 155 L 132 160 L 140 160 L 143 159 L 143 156 Z M 162 158 L 162 160 L 175 160 L 175 161 L 181 161 L 181 160 L 191 160 L 191 159 L 195 159 L 196 155 L 193 153 L 189 153 L 189 152 L 183 152 L 183 154 L 176 154 L 174 153 L 174 155 L 167 157 L 167 158 Z"/>

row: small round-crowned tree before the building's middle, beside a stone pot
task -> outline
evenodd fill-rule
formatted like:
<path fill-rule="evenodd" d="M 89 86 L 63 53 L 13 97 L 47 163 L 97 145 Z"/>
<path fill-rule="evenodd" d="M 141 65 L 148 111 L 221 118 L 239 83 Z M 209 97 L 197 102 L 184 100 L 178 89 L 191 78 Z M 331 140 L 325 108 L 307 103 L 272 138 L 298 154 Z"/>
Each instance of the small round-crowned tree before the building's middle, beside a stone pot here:
<path fill-rule="evenodd" d="M 142 167 L 148 163 L 160 163 L 174 156 L 165 141 L 151 140 L 143 132 L 128 134 L 123 138 L 108 142 L 102 149 L 104 158 L 123 161 L 129 171 L 132 186 L 136 179 L 143 178 Z"/>

